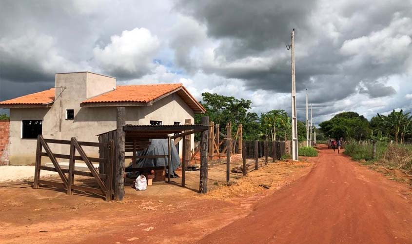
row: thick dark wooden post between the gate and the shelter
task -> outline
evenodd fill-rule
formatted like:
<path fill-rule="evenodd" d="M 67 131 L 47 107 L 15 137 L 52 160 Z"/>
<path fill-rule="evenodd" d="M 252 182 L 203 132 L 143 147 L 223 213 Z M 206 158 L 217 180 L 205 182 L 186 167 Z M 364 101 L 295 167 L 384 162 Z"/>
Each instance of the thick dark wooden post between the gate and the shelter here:
<path fill-rule="evenodd" d="M 115 166 L 115 200 L 123 201 L 124 197 L 124 142 L 126 133 L 126 108 L 117 107 L 116 114 L 116 166 Z"/>

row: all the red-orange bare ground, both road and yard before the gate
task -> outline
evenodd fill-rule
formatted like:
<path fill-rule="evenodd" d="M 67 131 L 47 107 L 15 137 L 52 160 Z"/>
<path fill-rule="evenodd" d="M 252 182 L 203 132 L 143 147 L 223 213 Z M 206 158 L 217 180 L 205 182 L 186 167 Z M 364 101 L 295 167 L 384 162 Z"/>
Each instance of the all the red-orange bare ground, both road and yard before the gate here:
<path fill-rule="evenodd" d="M 286 186 L 240 200 L 184 188 L 178 196 L 126 195 L 124 203 L 0 189 L 0 243 L 412 244 L 406 184 L 325 146 L 309 161 L 308 174 L 308 167 L 295 170 L 300 175 L 285 176 Z"/>

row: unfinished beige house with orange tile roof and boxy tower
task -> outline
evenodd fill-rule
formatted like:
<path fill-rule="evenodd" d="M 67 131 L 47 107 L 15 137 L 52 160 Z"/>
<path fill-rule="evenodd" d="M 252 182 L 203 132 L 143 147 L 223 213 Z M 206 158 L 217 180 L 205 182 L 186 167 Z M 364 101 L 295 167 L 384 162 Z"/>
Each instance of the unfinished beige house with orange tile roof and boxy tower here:
<path fill-rule="evenodd" d="M 39 134 L 98 142 L 98 134 L 116 129 L 118 106 L 126 107 L 126 124 L 136 125 L 184 124 L 205 112 L 180 83 L 116 86 L 116 78 L 92 72 L 59 73 L 54 88 L 0 102 L 10 108 L 9 164 L 33 164 Z M 64 146 L 53 152 L 67 154 Z M 98 157 L 96 149 L 86 153 Z"/>

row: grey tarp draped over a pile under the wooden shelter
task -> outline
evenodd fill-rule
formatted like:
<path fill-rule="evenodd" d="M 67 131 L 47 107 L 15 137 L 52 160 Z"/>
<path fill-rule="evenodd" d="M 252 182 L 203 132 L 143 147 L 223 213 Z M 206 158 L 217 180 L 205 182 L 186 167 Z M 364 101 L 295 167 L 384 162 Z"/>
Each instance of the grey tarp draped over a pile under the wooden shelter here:
<path fill-rule="evenodd" d="M 167 139 L 152 139 L 150 140 L 152 143 L 149 145 L 148 148 L 142 151 L 138 151 L 137 155 L 142 156 L 142 155 L 167 155 L 169 148 L 168 148 L 168 140 Z M 171 177 L 178 177 L 177 174 L 175 173 L 175 170 L 180 164 L 180 158 L 179 158 L 179 153 L 177 152 L 177 148 L 175 146 L 175 143 L 173 143 L 173 140 L 171 142 L 171 158 L 172 158 L 172 163 L 171 163 Z M 164 158 L 156 158 L 156 159 L 137 159 L 136 160 L 136 167 L 137 168 L 142 168 L 142 167 L 157 167 L 157 166 L 167 166 L 169 163 L 168 157 Z M 132 167 L 132 164 L 130 164 L 128 167 Z M 139 172 L 129 172 L 127 175 L 128 177 L 131 178 L 136 178 L 140 173 Z M 168 174 L 168 171 L 166 170 L 166 174 Z"/>

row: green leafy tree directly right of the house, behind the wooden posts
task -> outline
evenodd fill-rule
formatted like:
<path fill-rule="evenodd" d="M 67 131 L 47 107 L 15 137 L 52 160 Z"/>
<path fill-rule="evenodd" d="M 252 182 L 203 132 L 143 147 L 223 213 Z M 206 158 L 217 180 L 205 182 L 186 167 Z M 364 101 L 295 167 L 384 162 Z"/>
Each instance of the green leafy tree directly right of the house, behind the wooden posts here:
<path fill-rule="evenodd" d="M 199 124 L 201 117 L 209 116 L 210 121 L 219 124 L 223 133 L 226 133 L 226 123 L 232 122 L 232 131 L 237 130 L 239 123 L 243 126 L 243 139 L 256 140 L 260 132 L 259 118 L 256 113 L 249 112 L 252 101 L 226 97 L 216 93 L 202 93 L 206 114 L 196 114 L 195 123 Z"/>

